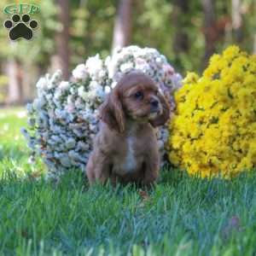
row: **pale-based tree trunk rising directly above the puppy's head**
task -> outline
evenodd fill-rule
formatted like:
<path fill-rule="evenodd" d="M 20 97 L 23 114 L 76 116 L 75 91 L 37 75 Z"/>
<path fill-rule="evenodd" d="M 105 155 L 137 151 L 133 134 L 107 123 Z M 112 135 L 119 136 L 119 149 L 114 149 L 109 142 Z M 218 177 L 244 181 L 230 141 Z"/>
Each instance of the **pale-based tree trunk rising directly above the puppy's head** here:
<path fill-rule="evenodd" d="M 131 0 L 119 0 L 119 8 L 113 29 L 112 49 L 124 47 L 131 40 Z"/>

